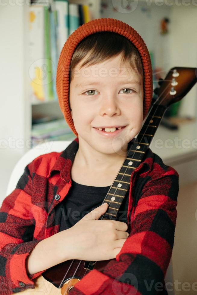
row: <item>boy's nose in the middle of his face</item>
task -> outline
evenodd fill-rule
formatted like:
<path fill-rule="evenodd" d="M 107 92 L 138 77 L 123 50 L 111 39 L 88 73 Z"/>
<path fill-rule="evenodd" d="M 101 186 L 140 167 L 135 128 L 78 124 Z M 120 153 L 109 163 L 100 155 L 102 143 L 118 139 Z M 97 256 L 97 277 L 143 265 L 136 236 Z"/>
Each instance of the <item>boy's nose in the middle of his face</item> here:
<path fill-rule="evenodd" d="M 108 115 L 110 117 L 114 114 L 120 115 L 120 107 L 117 99 L 112 95 L 102 98 L 99 114 L 100 116 Z"/>

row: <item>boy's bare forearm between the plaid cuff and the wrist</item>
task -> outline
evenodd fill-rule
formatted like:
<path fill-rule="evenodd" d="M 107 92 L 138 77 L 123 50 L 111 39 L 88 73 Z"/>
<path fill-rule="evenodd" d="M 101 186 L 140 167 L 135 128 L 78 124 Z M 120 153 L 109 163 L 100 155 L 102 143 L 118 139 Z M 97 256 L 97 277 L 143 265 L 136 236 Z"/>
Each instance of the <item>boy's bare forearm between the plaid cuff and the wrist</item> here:
<path fill-rule="evenodd" d="M 67 261 L 69 256 L 69 230 L 64 230 L 40 241 L 26 259 L 28 275 L 48 269 L 61 262 Z"/>

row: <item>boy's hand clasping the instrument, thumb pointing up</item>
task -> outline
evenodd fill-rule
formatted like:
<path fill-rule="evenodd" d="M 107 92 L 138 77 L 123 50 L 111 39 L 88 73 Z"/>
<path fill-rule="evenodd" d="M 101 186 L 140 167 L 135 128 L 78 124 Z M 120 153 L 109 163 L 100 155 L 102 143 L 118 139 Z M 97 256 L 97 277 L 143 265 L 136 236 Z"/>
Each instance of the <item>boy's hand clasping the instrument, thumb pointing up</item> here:
<path fill-rule="evenodd" d="M 70 259 L 99 261 L 113 259 L 120 252 L 129 236 L 127 224 L 117 220 L 98 220 L 108 208 L 107 203 L 86 214 L 71 228 L 66 230 L 69 244 L 64 251 L 68 251 Z M 64 241 L 62 233 L 62 241 Z M 60 233 L 59 233 L 60 234 Z M 68 236 L 66 239 L 68 240 Z"/>

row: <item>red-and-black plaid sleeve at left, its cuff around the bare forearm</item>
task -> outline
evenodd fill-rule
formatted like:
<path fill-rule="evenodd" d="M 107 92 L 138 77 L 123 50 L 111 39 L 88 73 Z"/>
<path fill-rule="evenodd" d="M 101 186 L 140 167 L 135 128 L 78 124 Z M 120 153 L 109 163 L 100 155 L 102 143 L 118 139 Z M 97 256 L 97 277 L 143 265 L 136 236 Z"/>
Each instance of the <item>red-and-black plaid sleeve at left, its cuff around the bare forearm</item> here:
<path fill-rule="evenodd" d="M 35 220 L 31 202 L 32 166 L 28 164 L 16 188 L 0 208 L 0 285 L 1 295 L 35 288 L 33 279 L 43 271 L 27 275 L 26 258 L 41 241 L 33 240 Z"/>

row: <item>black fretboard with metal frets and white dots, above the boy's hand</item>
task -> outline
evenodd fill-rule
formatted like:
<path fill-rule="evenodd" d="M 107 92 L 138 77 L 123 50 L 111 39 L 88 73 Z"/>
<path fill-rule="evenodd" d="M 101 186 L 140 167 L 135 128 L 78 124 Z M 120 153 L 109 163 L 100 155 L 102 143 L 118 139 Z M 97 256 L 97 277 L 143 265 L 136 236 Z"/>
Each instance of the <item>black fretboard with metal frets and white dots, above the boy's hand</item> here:
<path fill-rule="evenodd" d="M 130 188 L 131 174 L 142 162 L 165 111 L 166 107 L 153 104 L 138 136 L 129 142 L 124 163 L 103 200 L 103 203 L 108 203 L 108 209 L 99 219 L 116 219 L 120 205 Z"/>

